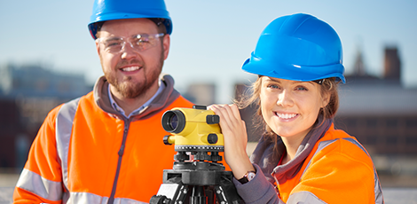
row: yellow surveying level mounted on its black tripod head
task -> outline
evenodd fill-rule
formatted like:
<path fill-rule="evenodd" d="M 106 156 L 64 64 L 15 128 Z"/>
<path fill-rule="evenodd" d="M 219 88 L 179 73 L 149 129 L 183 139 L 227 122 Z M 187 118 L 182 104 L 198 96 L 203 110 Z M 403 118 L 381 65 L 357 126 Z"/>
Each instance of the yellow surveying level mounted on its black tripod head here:
<path fill-rule="evenodd" d="M 173 169 L 163 170 L 163 184 L 150 204 L 240 204 L 232 172 L 222 163 L 224 139 L 218 115 L 206 106 L 173 108 L 162 115 L 162 127 L 175 144 Z"/>

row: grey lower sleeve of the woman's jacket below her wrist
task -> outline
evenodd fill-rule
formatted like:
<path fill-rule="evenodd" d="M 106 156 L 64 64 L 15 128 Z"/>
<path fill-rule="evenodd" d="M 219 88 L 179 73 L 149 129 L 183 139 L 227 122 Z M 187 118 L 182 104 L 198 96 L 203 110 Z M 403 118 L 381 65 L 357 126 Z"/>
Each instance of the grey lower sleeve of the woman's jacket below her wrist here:
<path fill-rule="evenodd" d="M 247 204 L 285 204 L 279 199 L 275 187 L 266 179 L 262 173 L 262 169 L 258 165 L 253 164 L 256 169 L 256 177 L 246 184 L 240 182 L 233 177 L 233 184 L 240 197 L 245 200 Z"/>

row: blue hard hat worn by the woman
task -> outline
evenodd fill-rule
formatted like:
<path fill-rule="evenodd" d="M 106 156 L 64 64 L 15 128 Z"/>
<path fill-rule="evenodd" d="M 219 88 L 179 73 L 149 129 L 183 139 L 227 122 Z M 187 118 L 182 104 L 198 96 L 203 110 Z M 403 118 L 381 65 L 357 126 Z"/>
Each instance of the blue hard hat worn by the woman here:
<path fill-rule="evenodd" d="M 242 69 L 293 81 L 336 77 L 345 82 L 339 35 L 326 22 L 304 13 L 272 20 Z"/>

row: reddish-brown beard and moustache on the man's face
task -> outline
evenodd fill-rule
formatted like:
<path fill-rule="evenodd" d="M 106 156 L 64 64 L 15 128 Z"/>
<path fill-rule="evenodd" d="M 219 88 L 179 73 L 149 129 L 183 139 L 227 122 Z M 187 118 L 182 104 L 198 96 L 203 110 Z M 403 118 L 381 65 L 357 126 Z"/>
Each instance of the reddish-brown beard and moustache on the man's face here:
<path fill-rule="evenodd" d="M 163 51 L 162 51 L 163 53 Z M 142 82 L 131 82 L 133 79 L 131 76 L 125 76 L 120 82 L 115 73 L 112 75 L 111 73 L 105 73 L 107 82 L 114 86 L 114 88 L 119 92 L 123 98 L 138 98 L 143 96 L 147 90 L 149 90 L 153 84 L 158 80 L 159 75 L 161 75 L 161 70 L 163 66 L 163 54 L 161 54 L 160 60 L 158 63 L 154 65 L 154 67 L 146 67 L 144 65 L 141 67 L 144 72 L 144 78 Z M 120 63 L 117 64 L 116 67 L 122 67 L 123 65 L 127 64 L 139 64 L 136 59 L 131 61 L 122 60 Z M 151 70 L 149 74 L 146 75 L 146 69 Z M 117 71 L 117 70 L 116 70 Z"/>

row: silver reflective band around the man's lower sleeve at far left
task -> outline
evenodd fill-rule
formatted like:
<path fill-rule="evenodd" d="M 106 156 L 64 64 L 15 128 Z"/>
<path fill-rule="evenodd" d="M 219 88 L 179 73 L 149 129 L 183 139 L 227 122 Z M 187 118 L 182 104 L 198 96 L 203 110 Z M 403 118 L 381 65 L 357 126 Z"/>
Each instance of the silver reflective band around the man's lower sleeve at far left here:
<path fill-rule="evenodd" d="M 33 192 L 47 200 L 61 200 L 62 197 L 60 182 L 45 179 L 28 169 L 22 170 L 16 186 L 28 192 Z"/>

